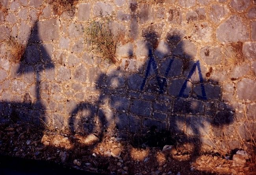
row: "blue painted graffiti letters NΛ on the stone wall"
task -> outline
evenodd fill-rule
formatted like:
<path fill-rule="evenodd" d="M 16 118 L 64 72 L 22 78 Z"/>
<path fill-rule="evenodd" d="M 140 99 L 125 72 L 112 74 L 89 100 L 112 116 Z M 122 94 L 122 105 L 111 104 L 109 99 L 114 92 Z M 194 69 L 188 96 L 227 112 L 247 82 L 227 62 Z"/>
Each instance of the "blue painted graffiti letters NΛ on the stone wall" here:
<path fill-rule="evenodd" d="M 156 80 L 157 80 L 158 86 L 160 88 L 160 94 L 163 94 L 164 93 L 164 85 L 166 83 L 166 78 L 161 78 L 158 75 L 158 66 L 157 66 L 156 61 L 154 59 L 154 56 L 152 54 L 152 50 L 149 50 L 149 55 L 150 55 L 150 57 L 149 57 L 149 61 L 148 61 L 147 69 L 146 69 L 145 78 L 143 79 L 143 82 L 141 84 L 141 90 L 143 90 L 143 88 L 145 87 L 145 84 L 146 84 L 146 81 L 147 81 L 148 76 L 150 74 L 150 70 L 151 70 L 151 66 L 152 66 L 152 68 L 154 70 L 154 74 L 156 74 Z M 165 74 L 164 74 L 165 77 L 168 76 L 168 74 L 171 70 L 171 65 L 173 64 L 173 61 L 174 61 L 174 59 L 171 59 L 169 65 L 167 66 L 167 69 L 166 69 Z M 203 79 L 203 76 L 202 76 L 199 60 L 196 63 L 193 64 L 193 67 L 190 70 L 186 81 L 182 85 L 182 88 L 181 88 L 180 93 L 179 93 L 179 97 L 184 97 L 184 98 L 188 97 L 187 94 L 184 94 L 184 91 L 186 90 L 187 82 L 192 77 L 192 75 L 195 73 L 196 68 L 198 69 L 198 75 L 199 75 L 201 93 L 202 93 L 202 96 L 197 96 L 197 97 L 200 98 L 200 99 L 204 99 L 204 100 L 207 99 L 204 84 L 203 84 L 204 79 Z"/>

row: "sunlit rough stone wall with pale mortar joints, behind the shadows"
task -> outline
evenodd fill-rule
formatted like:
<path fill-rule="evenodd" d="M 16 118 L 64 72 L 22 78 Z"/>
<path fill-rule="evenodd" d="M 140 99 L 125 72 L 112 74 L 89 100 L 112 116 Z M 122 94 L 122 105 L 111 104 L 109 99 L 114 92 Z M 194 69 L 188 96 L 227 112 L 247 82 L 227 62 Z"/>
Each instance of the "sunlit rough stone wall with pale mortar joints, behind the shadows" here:
<path fill-rule="evenodd" d="M 156 128 L 212 147 L 226 135 L 233 148 L 255 130 L 254 0 L 79 0 L 61 16 L 44 0 L 1 2 L 0 37 L 26 44 L 20 63 L 0 48 L 2 122 L 86 134 Z M 85 29 L 102 17 L 130 38 L 117 44 L 117 64 L 87 49 Z"/>

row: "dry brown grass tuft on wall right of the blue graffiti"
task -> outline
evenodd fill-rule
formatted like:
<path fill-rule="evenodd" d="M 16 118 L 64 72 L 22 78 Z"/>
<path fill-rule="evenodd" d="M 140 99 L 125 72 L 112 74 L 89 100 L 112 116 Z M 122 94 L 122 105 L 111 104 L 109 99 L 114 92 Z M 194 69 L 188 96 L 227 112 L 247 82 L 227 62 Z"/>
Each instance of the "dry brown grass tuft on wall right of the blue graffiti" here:
<path fill-rule="evenodd" d="M 240 65 L 245 61 L 245 57 L 243 55 L 243 43 L 232 42 L 228 44 L 224 48 L 223 56 L 225 58 L 225 66 L 228 68 Z"/>

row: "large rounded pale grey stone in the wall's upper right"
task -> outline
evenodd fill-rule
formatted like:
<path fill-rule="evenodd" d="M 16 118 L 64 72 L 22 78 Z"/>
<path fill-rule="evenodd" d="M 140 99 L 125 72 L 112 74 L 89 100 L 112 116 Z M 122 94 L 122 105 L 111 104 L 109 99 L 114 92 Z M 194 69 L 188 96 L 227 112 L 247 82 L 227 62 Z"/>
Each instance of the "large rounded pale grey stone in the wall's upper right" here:
<path fill-rule="evenodd" d="M 217 28 L 216 38 L 220 42 L 247 41 L 249 32 L 241 18 L 232 16 Z"/>

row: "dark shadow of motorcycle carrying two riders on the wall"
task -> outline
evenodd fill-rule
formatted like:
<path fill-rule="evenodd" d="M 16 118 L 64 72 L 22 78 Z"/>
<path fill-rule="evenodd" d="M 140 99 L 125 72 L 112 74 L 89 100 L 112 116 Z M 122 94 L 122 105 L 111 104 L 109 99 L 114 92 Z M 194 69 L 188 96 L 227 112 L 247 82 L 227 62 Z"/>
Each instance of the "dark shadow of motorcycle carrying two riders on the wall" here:
<path fill-rule="evenodd" d="M 143 32 L 148 50 L 145 65 L 139 73 L 115 70 L 100 75 L 96 108 L 80 103 L 70 114 L 71 133 L 93 133 L 102 139 L 114 120 L 117 136 L 135 147 L 162 148 L 181 140 L 193 144 L 197 154 L 203 144 L 213 144 L 204 138 L 221 136 L 222 129 L 234 122 L 234 113 L 221 101 L 218 82 L 207 79 L 200 61 L 187 53 L 193 49 L 190 41 L 175 33 L 167 34 L 171 50 L 166 54 L 159 51 L 166 45 L 158 42 L 154 29 Z M 111 114 L 102 107 L 106 99 Z"/>

